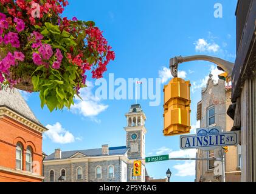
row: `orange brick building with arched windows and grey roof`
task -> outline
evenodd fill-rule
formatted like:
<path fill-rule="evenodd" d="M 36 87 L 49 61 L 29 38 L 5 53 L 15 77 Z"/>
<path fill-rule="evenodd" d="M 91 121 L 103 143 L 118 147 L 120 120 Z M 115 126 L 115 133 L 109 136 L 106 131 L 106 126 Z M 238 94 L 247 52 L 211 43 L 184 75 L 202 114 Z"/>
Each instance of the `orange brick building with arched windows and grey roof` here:
<path fill-rule="evenodd" d="M 0 91 L 1 182 L 43 180 L 42 133 L 46 130 L 18 90 Z"/>

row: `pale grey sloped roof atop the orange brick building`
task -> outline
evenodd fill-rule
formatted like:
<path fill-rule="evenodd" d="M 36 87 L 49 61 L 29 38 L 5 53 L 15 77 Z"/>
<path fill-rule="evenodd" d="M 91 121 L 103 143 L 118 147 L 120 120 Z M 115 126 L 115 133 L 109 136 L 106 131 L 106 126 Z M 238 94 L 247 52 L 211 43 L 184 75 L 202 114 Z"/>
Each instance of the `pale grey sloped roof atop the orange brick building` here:
<path fill-rule="evenodd" d="M 0 107 L 1 106 L 8 107 L 19 113 L 19 115 L 41 124 L 17 89 L 0 90 Z"/>

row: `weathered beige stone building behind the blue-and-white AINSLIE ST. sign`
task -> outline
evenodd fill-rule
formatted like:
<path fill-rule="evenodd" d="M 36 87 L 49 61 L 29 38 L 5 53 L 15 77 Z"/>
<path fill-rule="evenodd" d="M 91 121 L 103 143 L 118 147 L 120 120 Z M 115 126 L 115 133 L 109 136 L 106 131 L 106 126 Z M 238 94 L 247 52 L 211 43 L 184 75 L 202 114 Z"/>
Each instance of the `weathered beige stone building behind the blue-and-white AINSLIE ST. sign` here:
<path fill-rule="evenodd" d="M 220 126 L 223 132 L 232 129 L 233 120 L 226 114 L 231 104 L 231 89 L 232 86 L 226 86 L 225 81 L 221 79 L 215 84 L 210 75 L 206 88 L 202 89 L 202 100 L 198 102 L 197 120 L 201 121 L 201 127 Z M 220 149 L 198 149 L 196 158 L 220 158 L 219 151 Z M 240 167 L 241 147 L 230 146 L 225 155 L 226 182 L 240 181 Z M 222 181 L 221 176 L 215 176 L 214 169 L 214 161 L 196 161 L 196 181 Z"/>

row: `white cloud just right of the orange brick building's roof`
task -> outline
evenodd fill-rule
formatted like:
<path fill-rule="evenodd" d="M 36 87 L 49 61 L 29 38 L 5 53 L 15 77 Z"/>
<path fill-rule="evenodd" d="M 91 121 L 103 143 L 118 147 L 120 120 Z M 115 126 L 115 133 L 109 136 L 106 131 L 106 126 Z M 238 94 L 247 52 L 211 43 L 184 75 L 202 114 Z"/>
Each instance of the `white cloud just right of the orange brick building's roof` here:
<path fill-rule="evenodd" d="M 72 135 L 71 132 L 63 129 L 60 122 L 56 122 L 54 125 L 48 124 L 46 125 L 46 128 L 49 130 L 44 132 L 44 135 L 55 143 L 69 144 L 75 141 L 74 135 Z"/>

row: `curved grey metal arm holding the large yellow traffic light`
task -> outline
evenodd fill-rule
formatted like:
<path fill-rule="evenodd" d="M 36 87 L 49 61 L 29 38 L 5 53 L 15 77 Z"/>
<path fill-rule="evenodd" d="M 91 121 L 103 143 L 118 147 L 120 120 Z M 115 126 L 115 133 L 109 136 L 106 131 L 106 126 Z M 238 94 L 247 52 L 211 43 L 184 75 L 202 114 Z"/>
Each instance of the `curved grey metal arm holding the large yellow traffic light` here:
<path fill-rule="evenodd" d="M 178 77 L 178 65 L 182 62 L 187 61 L 210 61 L 221 67 L 225 72 L 228 73 L 228 76 L 232 75 L 232 70 L 234 68 L 234 63 L 225 61 L 220 58 L 216 58 L 213 56 L 207 56 L 207 55 L 193 55 L 193 56 L 176 56 L 175 58 L 170 59 L 170 69 L 171 69 L 171 75 L 173 75 L 174 78 Z"/>

